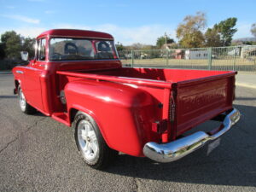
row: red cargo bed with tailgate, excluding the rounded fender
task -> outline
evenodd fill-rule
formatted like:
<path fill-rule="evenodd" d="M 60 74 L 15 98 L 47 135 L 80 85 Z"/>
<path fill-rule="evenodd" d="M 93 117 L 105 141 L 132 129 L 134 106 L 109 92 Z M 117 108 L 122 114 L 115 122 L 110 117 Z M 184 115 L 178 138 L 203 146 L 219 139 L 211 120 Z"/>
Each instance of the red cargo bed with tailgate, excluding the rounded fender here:
<path fill-rule="evenodd" d="M 159 119 L 167 119 L 167 140 L 232 108 L 236 72 L 114 68 L 102 71 L 59 71 L 67 81 L 96 79 L 134 85 L 161 103 Z M 68 78 L 70 77 L 70 78 Z M 66 82 L 67 83 L 67 82 Z M 65 84 L 66 84 L 65 83 Z"/>

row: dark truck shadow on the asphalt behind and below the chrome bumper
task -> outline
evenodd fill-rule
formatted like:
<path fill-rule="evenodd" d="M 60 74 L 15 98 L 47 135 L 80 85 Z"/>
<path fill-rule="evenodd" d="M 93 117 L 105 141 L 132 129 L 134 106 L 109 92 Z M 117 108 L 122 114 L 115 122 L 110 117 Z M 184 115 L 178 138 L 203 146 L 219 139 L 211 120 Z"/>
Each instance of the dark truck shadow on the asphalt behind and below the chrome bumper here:
<path fill-rule="evenodd" d="M 179 183 L 256 187 L 256 108 L 236 105 L 243 114 L 238 124 L 207 155 L 207 145 L 181 160 L 160 164 L 148 158 L 120 154 L 107 172 Z"/>

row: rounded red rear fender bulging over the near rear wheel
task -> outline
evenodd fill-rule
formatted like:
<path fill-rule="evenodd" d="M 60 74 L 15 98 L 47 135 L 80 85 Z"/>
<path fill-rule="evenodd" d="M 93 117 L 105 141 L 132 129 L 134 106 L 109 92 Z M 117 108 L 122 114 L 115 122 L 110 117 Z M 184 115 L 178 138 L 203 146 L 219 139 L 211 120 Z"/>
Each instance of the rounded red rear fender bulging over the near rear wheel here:
<path fill-rule="evenodd" d="M 125 154 L 143 156 L 143 145 L 155 141 L 154 98 L 127 84 L 83 79 L 65 86 L 67 110 L 89 113 L 96 120 L 110 148 Z"/>

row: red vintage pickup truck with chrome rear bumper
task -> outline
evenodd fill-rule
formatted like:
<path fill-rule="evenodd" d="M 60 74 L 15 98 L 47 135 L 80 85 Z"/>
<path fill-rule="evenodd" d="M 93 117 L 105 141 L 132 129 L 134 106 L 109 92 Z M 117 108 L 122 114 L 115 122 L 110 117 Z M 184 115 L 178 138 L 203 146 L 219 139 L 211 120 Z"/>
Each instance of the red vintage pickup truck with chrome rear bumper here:
<path fill-rule="evenodd" d="M 84 161 L 96 169 L 118 152 L 178 160 L 240 119 L 232 107 L 236 72 L 122 67 L 104 32 L 43 32 L 35 59 L 13 73 L 21 111 L 73 125 Z M 210 119 L 220 126 L 183 136 Z"/>

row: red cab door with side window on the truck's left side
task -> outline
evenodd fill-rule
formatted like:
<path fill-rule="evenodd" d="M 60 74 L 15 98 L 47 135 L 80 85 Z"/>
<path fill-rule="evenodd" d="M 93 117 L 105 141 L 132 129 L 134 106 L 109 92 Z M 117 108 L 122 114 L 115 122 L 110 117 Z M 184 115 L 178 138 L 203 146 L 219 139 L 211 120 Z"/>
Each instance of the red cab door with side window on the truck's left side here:
<path fill-rule="evenodd" d="M 46 58 L 46 38 L 37 40 L 36 59 L 32 61 L 29 67 L 26 68 L 25 84 L 22 90 L 26 97 L 26 101 L 32 107 L 44 111 L 42 102 L 42 90 L 40 79 L 44 72 Z"/>

